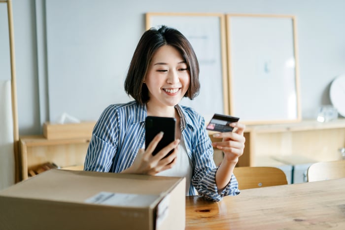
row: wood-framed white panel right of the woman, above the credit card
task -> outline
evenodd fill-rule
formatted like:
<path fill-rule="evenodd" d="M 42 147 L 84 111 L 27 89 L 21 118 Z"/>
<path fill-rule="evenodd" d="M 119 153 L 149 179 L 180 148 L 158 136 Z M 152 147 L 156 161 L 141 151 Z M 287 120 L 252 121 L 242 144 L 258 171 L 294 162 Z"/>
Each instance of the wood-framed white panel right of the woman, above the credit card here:
<path fill-rule="evenodd" d="M 301 120 L 296 19 L 227 14 L 230 114 L 245 124 Z"/>

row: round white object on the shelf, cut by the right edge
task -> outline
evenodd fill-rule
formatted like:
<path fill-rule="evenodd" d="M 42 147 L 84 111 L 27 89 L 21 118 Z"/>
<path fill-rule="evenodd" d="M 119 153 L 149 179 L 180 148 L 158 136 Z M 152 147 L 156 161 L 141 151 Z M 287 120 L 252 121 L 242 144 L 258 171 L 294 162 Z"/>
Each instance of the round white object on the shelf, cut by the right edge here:
<path fill-rule="evenodd" d="M 345 116 L 345 75 L 338 76 L 332 81 L 329 96 L 338 113 Z"/>

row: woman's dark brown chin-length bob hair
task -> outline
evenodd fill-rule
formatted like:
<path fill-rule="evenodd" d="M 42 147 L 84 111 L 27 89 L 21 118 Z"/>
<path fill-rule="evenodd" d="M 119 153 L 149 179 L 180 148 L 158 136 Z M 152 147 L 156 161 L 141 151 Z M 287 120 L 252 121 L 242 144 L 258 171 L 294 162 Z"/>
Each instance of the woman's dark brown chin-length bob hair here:
<path fill-rule="evenodd" d="M 187 64 L 190 84 L 184 97 L 193 100 L 199 94 L 199 63 L 192 45 L 179 31 L 163 25 L 159 29 L 151 28 L 141 36 L 128 70 L 125 91 L 139 104 L 150 99 L 148 88 L 143 81 L 153 55 L 163 45 L 176 48 Z"/>

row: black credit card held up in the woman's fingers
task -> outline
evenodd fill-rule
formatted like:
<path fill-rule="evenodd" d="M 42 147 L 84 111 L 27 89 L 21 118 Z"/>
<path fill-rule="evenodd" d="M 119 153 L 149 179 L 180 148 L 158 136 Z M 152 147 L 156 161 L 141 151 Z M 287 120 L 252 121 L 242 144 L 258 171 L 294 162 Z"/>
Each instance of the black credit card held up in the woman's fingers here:
<path fill-rule="evenodd" d="M 239 117 L 214 114 L 207 125 L 208 130 L 219 132 L 232 132 L 234 127 L 229 126 L 230 123 L 239 121 Z"/>

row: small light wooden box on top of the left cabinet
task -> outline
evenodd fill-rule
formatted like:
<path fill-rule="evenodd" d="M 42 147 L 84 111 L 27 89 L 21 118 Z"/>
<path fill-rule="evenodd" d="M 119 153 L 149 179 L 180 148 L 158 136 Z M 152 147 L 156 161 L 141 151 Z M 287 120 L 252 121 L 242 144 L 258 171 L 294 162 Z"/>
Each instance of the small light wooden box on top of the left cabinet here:
<path fill-rule="evenodd" d="M 96 121 L 84 121 L 80 123 L 56 124 L 43 123 L 43 136 L 48 140 L 62 140 L 74 138 L 90 139 Z"/>

